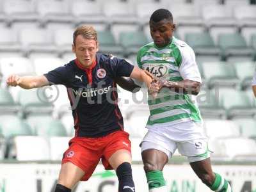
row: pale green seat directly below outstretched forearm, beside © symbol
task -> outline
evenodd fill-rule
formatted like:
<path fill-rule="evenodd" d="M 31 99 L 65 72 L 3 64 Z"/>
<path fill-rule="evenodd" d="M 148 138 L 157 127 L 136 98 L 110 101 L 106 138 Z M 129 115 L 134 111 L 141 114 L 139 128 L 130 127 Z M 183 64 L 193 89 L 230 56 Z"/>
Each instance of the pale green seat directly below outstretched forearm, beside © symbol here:
<path fill-rule="evenodd" d="M 24 116 L 31 113 L 52 113 L 51 95 L 47 95 L 47 87 L 35 88 L 31 90 L 20 90 L 17 102 L 22 107 Z"/>

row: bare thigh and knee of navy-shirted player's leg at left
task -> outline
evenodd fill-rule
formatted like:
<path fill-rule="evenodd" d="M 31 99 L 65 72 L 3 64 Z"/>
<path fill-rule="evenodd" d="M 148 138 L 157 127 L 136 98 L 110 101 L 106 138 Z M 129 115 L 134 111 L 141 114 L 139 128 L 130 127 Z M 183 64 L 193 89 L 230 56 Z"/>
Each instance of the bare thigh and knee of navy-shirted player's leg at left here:
<path fill-rule="evenodd" d="M 79 180 L 84 176 L 84 171 L 71 162 L 61 165 L 58 184 L 61 184 L 69 189 L 72 189 Z"/>

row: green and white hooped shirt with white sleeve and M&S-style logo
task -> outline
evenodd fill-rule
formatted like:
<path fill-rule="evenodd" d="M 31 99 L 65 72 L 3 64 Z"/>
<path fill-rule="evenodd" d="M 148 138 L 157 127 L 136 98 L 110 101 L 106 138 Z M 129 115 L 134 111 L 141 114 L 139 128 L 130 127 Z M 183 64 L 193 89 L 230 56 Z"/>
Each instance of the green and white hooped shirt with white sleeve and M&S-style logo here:
<path fill-rule="evenodd" d="M 171 44 L 161 49 L 156 47 L 154 42 L 141 47 L 137 55 L 137 63 L 138 67 L 148 70 L 161 79 L 176 82 L 189 79 L 202 83 L 193 49 L 175 37 L 172 38 Z M 169 88 L 163 88 L 156 99 L 148 95 L 148 106 L 150 109 L 148 128 L 156 125 L 179 124 L 189 120 L 202 121 L 195 96 L 175 93 Z"/>

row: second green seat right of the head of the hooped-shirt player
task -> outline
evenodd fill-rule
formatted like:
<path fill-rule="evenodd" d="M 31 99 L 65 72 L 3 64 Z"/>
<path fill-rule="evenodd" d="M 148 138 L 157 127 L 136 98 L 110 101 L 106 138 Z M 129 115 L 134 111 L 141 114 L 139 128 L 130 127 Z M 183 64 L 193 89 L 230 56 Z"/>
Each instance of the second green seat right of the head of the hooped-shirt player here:
<path fill-rule="evenodd" d="M 218 36 L 218 45 L 223 51 L 223 59 L 237 61 L 237 58 L 244 57 L 245 60 L 252 60 L 253 49 L 246 45 L 246 41 L 239 33 L 223 33 Z M 241 59 L 240 59 L 241 60 Z"/>

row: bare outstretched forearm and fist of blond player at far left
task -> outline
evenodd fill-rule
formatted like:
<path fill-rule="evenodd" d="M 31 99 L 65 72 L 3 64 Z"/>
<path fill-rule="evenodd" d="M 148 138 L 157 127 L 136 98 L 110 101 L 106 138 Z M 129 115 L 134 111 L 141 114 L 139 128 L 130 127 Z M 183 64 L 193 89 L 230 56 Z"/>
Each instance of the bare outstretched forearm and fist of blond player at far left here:
<path fill-rule="evenodd" d="M 9 86 L 20 86 L 24 89 L 38 88 L 46 86 L 49 81 L 45 76 L 24 76 L 11 75 L 7 78 L 6 83 Z"/>

